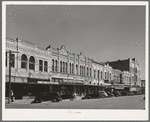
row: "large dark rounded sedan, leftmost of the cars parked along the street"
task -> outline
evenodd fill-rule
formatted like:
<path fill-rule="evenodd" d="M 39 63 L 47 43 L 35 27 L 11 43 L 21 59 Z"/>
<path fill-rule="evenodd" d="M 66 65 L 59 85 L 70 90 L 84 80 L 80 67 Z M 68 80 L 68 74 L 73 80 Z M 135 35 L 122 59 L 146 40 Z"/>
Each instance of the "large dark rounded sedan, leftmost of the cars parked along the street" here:
<path fill-rule="evenodd" d="M 33 103 L 41 103 L 42 101 L 59 102 L 62 99 L 58 92 L 42 92 L 35 96 Z"/>

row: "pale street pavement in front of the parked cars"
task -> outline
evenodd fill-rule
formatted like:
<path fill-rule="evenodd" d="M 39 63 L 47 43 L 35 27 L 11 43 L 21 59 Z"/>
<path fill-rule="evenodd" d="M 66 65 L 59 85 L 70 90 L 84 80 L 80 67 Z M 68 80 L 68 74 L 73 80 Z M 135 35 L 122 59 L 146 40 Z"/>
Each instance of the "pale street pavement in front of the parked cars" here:
<path fill-rule="evenodd" d="M 15 100 L 8 104 L 7 108 L 33 108 L 33 109 L 145 109 L 144 95 L 121 96 L 101 99 L 85 99 L 77 97 L 74 101 L 63 100 L 61 102 L 45 101 L 42 103 L 33 103 L 33 99 Z"/>

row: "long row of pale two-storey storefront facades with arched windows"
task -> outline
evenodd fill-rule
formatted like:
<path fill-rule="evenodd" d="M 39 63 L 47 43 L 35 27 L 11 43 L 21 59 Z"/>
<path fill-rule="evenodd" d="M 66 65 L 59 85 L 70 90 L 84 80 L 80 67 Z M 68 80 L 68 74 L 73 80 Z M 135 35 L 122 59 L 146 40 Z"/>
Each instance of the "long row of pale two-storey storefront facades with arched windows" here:
<path fill-rule="evenodd" d="M 95 93 L 111 89 L 112 85 L 116 89 L 123 84 L 132 86 L 135 81 L 140 81 L 140 68 L 133 60 L 129 60 L 130 65 L 121 70 L 119 67 L 113 68 L 111 63 L 87 58 L 82 52 L 70 53 L 63 45 L 57 49 L 50 45 L 43 49 L 24 40 L 7 38 L 5 53 L 6 96 L 9 89 L 9 64 L 11 89 L 16 98 L 48 91 L 82 95 L 86 91 Z"/>

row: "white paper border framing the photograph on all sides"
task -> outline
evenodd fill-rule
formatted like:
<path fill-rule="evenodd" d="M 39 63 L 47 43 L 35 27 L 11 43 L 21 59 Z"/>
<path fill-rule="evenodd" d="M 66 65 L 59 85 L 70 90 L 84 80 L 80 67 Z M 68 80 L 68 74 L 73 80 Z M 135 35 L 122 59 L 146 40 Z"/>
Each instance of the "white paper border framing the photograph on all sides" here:
<path fill-rule="evenodd" d="M 6 5 L 108 5 L 108 6 L 145 6 L 146 7 L 146 56 L 145 56 L 145 77 L 146 77 L 146 100 L 145 110 L 123 110 L 123 109 L 6 109 L 5 108 L 5 40 L 6 40 Z M 148 120 L 149 116 L 149 4 L 147 1 L 3 1 L 2 2 L 2 120 Z M 77 114 L 73 114 L 77 113 Z M 59 117 L 58 117 L 59 116 Z"/>

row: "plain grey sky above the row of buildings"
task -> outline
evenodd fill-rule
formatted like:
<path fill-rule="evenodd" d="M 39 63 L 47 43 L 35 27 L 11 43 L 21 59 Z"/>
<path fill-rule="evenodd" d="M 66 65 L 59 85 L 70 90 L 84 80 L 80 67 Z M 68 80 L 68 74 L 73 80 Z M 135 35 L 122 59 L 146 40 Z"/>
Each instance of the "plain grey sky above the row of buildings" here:
<path fill-rule="evenodd" d="M 136 58 L 145 79 L 144 6 L 7 5 L 6 37 L 97 62 Z"/>

